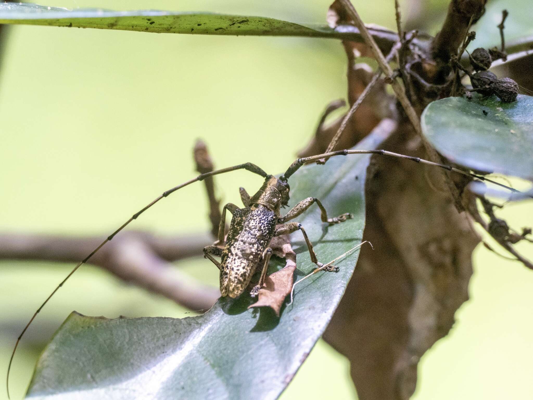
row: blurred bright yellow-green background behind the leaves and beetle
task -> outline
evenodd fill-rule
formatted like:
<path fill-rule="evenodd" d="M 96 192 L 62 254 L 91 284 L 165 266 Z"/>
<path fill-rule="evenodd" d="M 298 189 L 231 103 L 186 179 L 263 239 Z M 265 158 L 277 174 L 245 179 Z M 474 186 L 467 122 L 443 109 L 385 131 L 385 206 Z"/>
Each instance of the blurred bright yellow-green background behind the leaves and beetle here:
<path fill-rule="evenodd" d="M 430 3 L 442 10 L 447 2 Z M 355 4 L 365 21 L 394 27 L 392 0 Z M 329 1 L 58 0 L 47 5 L 322 22 Z M 426 23 L 434 29 L 439 18 Z M 252 161 L 271 173 L 285 170 L 325 105 L 346 92 L 342 47 L 327 39 L 14 27 L 3 57 L 0 230 L 21 233 L 109 234 L 161 191 L 195 175 L 196 138 L 206 140 L 219 167 Z M 216 182 L 223 202 L 239 204 L 238 187 L 253 192 L 261 180 L 235 172 Z M 190 186 L 143 214 L 133 227 L 156 233 L 205 231 L 204 197 L 201 185 Z M 516 228 L 533 225 L 528 204 L 509 205 L 502 215 Z M 533 258 L 531 246 L 519 249 Z M 471 300 L 458 311 L 451 334 L 424 356 L 416 399 L 533 395 L 533 273 L 483 247 L 475 251 L 474 262 Z M 1 377 L 22 327 L 71 267 L 0 262 Z M 176 268 L 217 284 L 216 269 L 203 259 L 184 260 Z M 191 315 L 84 266 L 22 341 L 11 375 L 14 398 L 23 395 L 39 352 L 72 310 L 109 318 Z M 320 341 L 282 398 L 354 395 L 348 362 Z"/>

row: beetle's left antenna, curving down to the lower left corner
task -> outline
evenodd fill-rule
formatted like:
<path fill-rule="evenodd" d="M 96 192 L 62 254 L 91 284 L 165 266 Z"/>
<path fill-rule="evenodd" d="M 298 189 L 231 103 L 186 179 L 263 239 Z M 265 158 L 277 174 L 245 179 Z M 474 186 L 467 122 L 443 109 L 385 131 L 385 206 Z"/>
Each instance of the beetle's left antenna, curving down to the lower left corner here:
<path fill-rule="evenodd" d="M 85 264 L 91 257 L 93 257 L 93 255 L 99 251 L 104 244 L 106 244 L 107 242 L 109 242 L 112 238 L 115 237 L 116 234 L 118 234 L 121 230 L 123 230 L 130 222 L 132 222 L 134 219 L 137 219 L 139 217 L 139 215 L 141 215 L 144 211 L 148 210 L 152 205 L 156 204 L 160 199 L 164 198 L 164 197 L 167 197 L 168 195 L 174 193 L 176 190 L 178 189 L 181 189 L 185 186 L 188 186 L 190 185 L 191 183 L 194 183 L 194 182 L 197 182 L 197 181 L 201 181 L 201 180 L 204 180 L 205 178 L 207 177 L 211 177 L 212 175 L 218 175 L 218 174 L 221 174 L 221 173 L 225 173 L 225 172 L 231 172 L 231 171 L 235 171 L 235 170 L 241 170 L 241 169 L 245 169 L 247 171 L 250 171 L 250 172 L 253 172 L 253 173 L 256 173 L 258 175 L 261 175 L 263 178 L 266 178 L 268 177 L 269 175 L 264 172 L 260 167 L 258 167 L 257 165 L 255 164 L 252 164 L 252 163 L 244 163 L 244 164 L 239 164 L 239 165 L 235 165 L 235 166 L 232 166 L 232 167 L 228 167 L 228 168 L 223 168 L 221 170 L 215 170 L 215 171 L 211 171 L 211 172 L 207 172 L 205 174 L 201 174 L 201 175 L 198 175 L 196 178 L 194 179 L 191 179 L 190 181 L 187 181 L 185 183 L 182 183 L 181 185 L 178 185 L 178 186 L 175 186 L 173 187 L 172 189 L 169 189 L 167 191 L 165 191 L 163 194 L 159 195 L 158 197 L 156 197 L 154 199 L 154 201 L 152 201 L 151 203 L 149 203 L 148 205 L 146 205 L 145 207 L 143 207 L 140 211 L 136 212 L 135 214 L 132 215 L 132 217 L 130 219 L 128 219 L 126 222 L 124 222 L 122 224 L 122 226 L 120 226 L 120 228 L 118 228 L 117 230 L 115 230 L 111 235 L 109 235 L 102 243 L 100 243 L 98 245 L 98 247 L 96 247 L 96 249 L 94 249 L 91 254 L 87 255 L 87 257 L 85 257 L 82 261 L 80 261 L 76 267 L 74 267 L 70 273 L 67 275 L 66 278 L 63 279 L 63 281 L 61 281 L 61 283 L 54 289 L 54 291 L 52 293 L 50 293 L 49 297 L 46 298 L 46 300 L 43 302 L 43 304 L 41 305 L 41 307 L 39 307 L 37 309 L 37 311 L 35 311 L 35 314 L 33 315 L 33 317 L 31 317 L 30 321 L 28 322 L 28 324 L 24 327 L 24 329 L 22 330 L 22 333 L 19 335 L 19 337 L 17 338 L 17 342 L 15 343 L 15 347 L 13 348 L 13 353 L 11 354 L 11 358 L 9 359 L 9 366 L 7 367 L 7 377 L 6 377 L 6 390 L 7 390 L 7 398 L 11 398 L 10 395 L 9 395 L 9 373 L 11 371 L 11 364 L 13 363 L 13 357 L 15 356 L 15 351 L 17 351 L 17 347 L 19 346 L 19 343 L 20 343 L 20 339 L 22 339 L 22 336 L 24 335 L 24 333 L 28 330 L 28 327 L 31 325 L 31 323 L 34 321 L 35 317 L 37 316 L 37 314 L 39 314 L 39 312 L 43 309 L 44 306 L 46 306 L 46 303 L 52 298 L 52 296 L 55 294 L 55 292 L 57 292 L 59 290 L 59 288 L 61 286 L 63 286 L 63 284 L 65 282 L 67 282 L 68 278 L 70 278 L 72 276 L 72 274 L 74 274 L 76 272 L 76 270 L 81 267 L 83 264 Z"/>

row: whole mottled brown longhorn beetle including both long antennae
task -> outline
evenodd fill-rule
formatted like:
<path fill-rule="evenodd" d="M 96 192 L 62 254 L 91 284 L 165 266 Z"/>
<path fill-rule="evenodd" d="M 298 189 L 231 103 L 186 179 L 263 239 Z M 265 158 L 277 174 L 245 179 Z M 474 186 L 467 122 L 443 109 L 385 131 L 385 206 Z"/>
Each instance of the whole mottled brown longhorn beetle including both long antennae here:
<path fill-rule="evenodd" d="M 335 224 L 345 221 L 346 219 L 352 218 L 352 215 L 349 213 L 339 215 L 338 217 L 328 218 L 326 209 L 320 203 L 319 199 L 308 197 L 302 200 L 300 203 L 296 204 L 284 217 L 280 217 L 280 208 L 281 206 L 288 205 L 289 201 L 289 184 L 288 179 L 292 174 L 294 174 L 302 165 L 312 161 L 318 161 L 322 158 L 329 158 L 333 156 L 346 156 L 349 154 L 379 154 L 385 156 L 392 156 L 398 158 L 405 158 L 416 163 L 423 163 L 427 165 L 433 165 L 440 168 L 443 168 L 448 171 L 460 173 L 467 175 L 471 178 L 478 179 L 481 181 L 487 181 L 494 183 L 495 185 L 502 186 L 506 189 L 509 189 L 514 192 L 518 190 L 502 185 L 501 183 L 492 181 L 481 175 L 473 174 L 470 172 L 465 172 L 463 170 L 457 169 L 456 167 L 434 163 L 432 161 L 427 161 L 419 157 L 411 157 L 398 153 L 392 153 L 391 151 L 386 150 L 337 150 L 330 153 L 319 154 L 316 156 L 298 158 L 294 163 L 292 163 L 287 171 L 281 175 L 279 178 L 269 175 L 264 172 L 260 167 L 252 163 L 244 163 L 228 168 L 223 168 L 221 170 L 215 170 L 212 172 L 207 172 L 201 175 L 198 175 L 196 178 L 191 179 L 181 185 L 178 185 L 172 189 L 165 191 L 163 194 L 159 195 L 154 201 L 149 203 L 147 206 L 143 207 L 140 211 L 132 215 L 130 219 L 123 223 L 117 230 L 109 235 L 96 249 L 94 249 L 91 254 L 87 255 L 85 259 L 80 261 L 74 269 L 70 271 L 66 278 L 54 289 L 54 291 L 46 298 L 41 307 L 37 309 L 34 315 L 31 317 L 28 324 L 22 330 L 22 333 L 17 338 L 17 342 L 13 348 L 13 353 L 9 361 L 9 366 L 7 367 L 7 395 L 9 397 L 9 372 L 11 370 L 11 364 L 13 362 L 13 357 L 15 351 L 20 343 L 20 340 L 23 334 L 26 332 L 30 324 L 33 322 L 39 311 L 43 309 L 46 303 L 52 298 L 52 296 L 59 290 L 61 286 L 67 281 L 76 270 L 86 263 L 97 251 L 99 251 L 104 244 L 109 242 L 112 238 L 115 237 L 121 230 L 123 230 L 130 222 L 134 219 L 137 219 L 144 211 L 148 210 L 152 205 L 159 202 L 161 199 L 171 195 L 176 190 L 179 190 L 185 186 L 190 185 L 193 182 L 204 180 L 207 177 L 213 175 L 218 175 L 226 172 L 236 171 L 236 170 L 247 170 L 255 174 L 261 175 L 265 179 L 263 186 L 257 191 L 253 196 L 249 196 L 246 193 L 244 188 L 240 188 L 240 196 L 245 205 L 243 209 L 239 209 L 235 204 L 228 203 L 223 207 L 222 219 L 219 226 L 219 235 L 218 240 L 212 246 L 206 246 L 204 248 L 204 256 L 211 260 L 219 269 L 220 269 L 220 291 L 223 296 L 229 296 L 231 298 L 236 298 L 244 292 L 252 275 L 254 274 L 257 266 L 261 266 L 262 273 L 259 283 L 254 286 L 251 295 L 255 296 L 259 293 L 265 276 L 268 269 L 268 263 L 272 250 L 269 247 L 270 240 L 276 235 L 286 235 L 293 233 L 297 230 L 302 231 L 302 235 L 305 239 L 305 243 L 308 247 L 309 253 L 311 254 L 311 261 L 317 266 L 323 266 L 317 259 L 317 255 L 314 253 L 313 245 L 309 241 L 307 234 L 305 233 L 304 228 L 298 222 L 289 222 L 286 221 L 292 220 L 298 215 L 301 215 L 305 210 L 313 203 L 317 203 L 321 211 L 321 220 L 322 222 L 327 222 L 329 224 Z M 224 243 L 224 230 L 225 230 L 225 215 L 226 211 L 233 215 L 230 223 L 229 232 L 227 239 Z M 277 224 L 284 224 L 276 229 Z M 221 249 L 222 244 L 224 248 Z M 213 256 L 221 256 L 221 261 L 217 261 Z M 328 266 L 327 270 L 335 270 L 335 266 Z"/>

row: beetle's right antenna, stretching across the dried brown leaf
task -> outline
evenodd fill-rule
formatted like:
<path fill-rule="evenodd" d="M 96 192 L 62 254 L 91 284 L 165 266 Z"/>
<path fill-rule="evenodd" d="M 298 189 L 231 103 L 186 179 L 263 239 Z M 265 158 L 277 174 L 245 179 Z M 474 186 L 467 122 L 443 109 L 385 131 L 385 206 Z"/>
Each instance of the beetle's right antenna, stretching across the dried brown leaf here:
<path fill-rule="evenodd" d="M 477 174 L 474 174 L 474 173 L 471 173 L 471 172 L 465 172 L 465 171 L 459 170 L 458 168 L 453 167 L 451 165 L 434 163 L 432 161 L 428 161 L 428 160 L 420 158 L 420 157 L 406 156 L 406 155 L 403 155 L 403 154 L 392 153 L 392 151 L 387 151 L 387 150 L 337 150 L 337 151 L 331 151 L 330 153 L 318 154 L 316 156 L 298 158 L 298 159 L 296 159 L 296 161 L 294 163 L 292 163 L 288 167 L 287 171 L 283 175 L 281 175 L 281 177 L 279 179 L 281 179 L 282 181 L 287 181 L 287 179 L 289 179 L 290 176 L 292 174 L 294 174 L 298 169 L 300 169 L 300 167 L 302 165 L 304 165 L 305 163 L 309 163 L 311 161 L 317 161 L 317 160 L 319 160 L 321 158 L 329 158 L 329 157 L 334 157 L 334 156 L 347 156 L 349 154 L 381 154 L 382 156 L 391 156 L 391 157 L 408 159 L 410 161 L 414 161 L 415 163 L 422 163 L 422 164 L 437 166 L 437 167 L 440 167 L 440 168 L 445 169 L 447 171 L 456 172 L 456 173 L 459 173 L 459 174 L 462 174 L 462 175 L 466 175 L 467 177 L 471 177 L 471 178 L 474 178 L 474 179 L 477 179 L 477 180 L 480 180 L 480 181 L 490 182 L 490 183 L 493 183 L 494 185 L 498 185 L 498 186 L 503 187 L 503 188 L 505 188 L 507 190 L 511 190 L 514 193 L 522 193 L 520 190 L 516 190 L 516 189 L 514 189 L 512 187 L 505 186 L 502 183 L 499 183 L 499 182 L 493 181 L 491 179 L 485 178 L 482 175 L 477 175 Z M 533 198 L 533 196 L 529 196 L 529 197 Z"/>

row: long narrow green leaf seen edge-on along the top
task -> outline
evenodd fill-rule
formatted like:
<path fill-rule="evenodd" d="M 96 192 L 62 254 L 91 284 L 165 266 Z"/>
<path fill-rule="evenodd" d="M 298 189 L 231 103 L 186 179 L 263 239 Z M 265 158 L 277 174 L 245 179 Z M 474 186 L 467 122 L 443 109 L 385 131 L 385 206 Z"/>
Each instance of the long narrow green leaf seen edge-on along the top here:
<path fill-rule="evenodd" d="M 332 29 L 327 25 L 215 13 L 180 13 L 155 10 L 108 11 L 100 9 L 69 11 L 28 3 L 0 4 L 0 23 L 193 35 L 329 37 L 362 42 L 359 31 L 354 27 Z M 378 45 L 383 46 L 384 50 L 390 49 L 398 39 L 397 34 L 384 28 L 369 27 L 369 30 Z"/>

